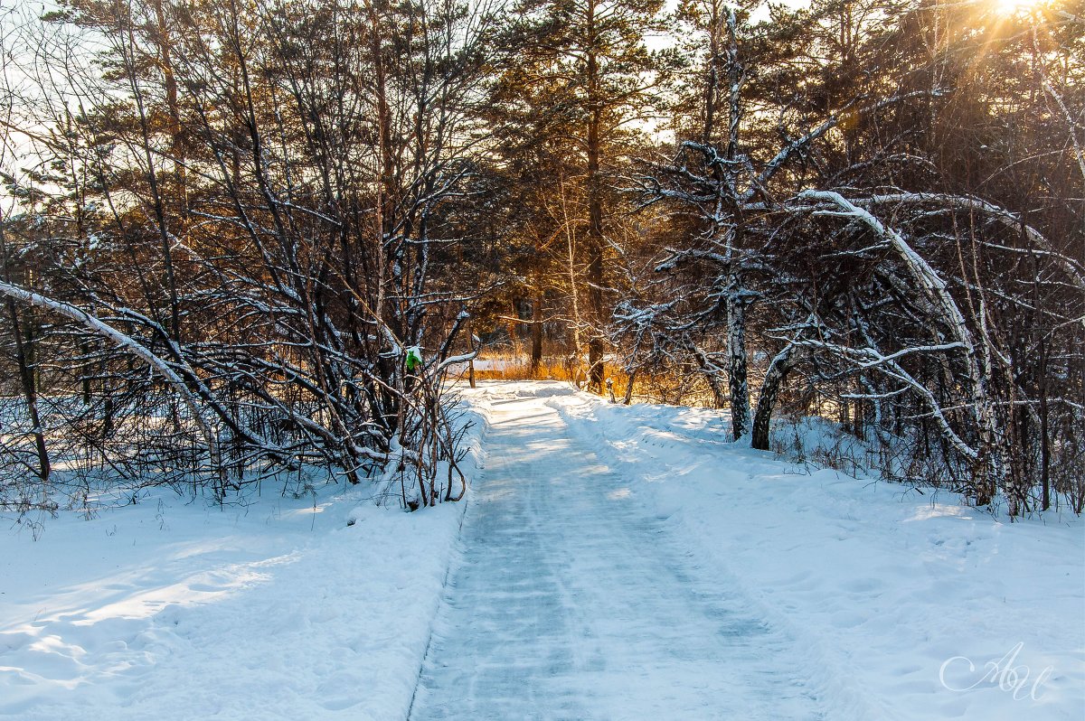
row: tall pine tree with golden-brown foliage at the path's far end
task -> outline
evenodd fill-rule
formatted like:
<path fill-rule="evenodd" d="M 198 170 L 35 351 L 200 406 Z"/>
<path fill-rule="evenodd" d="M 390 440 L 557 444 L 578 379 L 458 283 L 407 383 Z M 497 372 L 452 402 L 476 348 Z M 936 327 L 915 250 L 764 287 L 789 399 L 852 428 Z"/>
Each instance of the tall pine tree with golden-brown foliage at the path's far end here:
<path fill-rule="evenodd" d="M 647 46 L 650 34 L 665 28 L 662 0 L 528 0 L 513 14 L 507 37 L 516 42 L 499 96 L 512 123 L 509 134 L 521 129 L 531 139 L 524 150 L 536 157 L 560 153 L 561 167 L 550 166 L 563 179 L 558 191 L 580 198 L 563 206 L 576 206 L 570 220 L 583 242 L 575 259 L 585 267 L 583 287 L 570 293 L 586 299 L 589 384 L 602 392 L 611 302 L 607 263 L 617 206 L 611 179 L 627 163 L 630 139 L 664 106 L 676 56 Z"/>

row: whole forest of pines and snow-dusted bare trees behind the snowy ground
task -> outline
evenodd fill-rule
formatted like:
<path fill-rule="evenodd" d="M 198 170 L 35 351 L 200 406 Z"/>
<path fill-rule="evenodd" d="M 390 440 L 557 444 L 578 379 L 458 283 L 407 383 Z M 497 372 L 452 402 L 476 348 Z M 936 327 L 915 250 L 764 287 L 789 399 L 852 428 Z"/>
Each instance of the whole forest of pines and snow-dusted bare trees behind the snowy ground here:
<path fill-rule="evenodd" d="M 501 347 L 1085 507 L 1082 0 L 0 14 L 0 508 L 455 501 Z"/>

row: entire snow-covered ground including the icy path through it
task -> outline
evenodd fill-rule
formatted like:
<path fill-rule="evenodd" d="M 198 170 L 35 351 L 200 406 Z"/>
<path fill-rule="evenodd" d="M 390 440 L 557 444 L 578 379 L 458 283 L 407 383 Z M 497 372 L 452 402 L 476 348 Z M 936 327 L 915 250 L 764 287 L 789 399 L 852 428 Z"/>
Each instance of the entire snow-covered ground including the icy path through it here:
<path fill-rule="evenodd" d="M 3 528 L 0 717 L 1085 714 L 1080 519 L 808 473 L 711 411 L 468 395 L 468 504 L 163 494 Z"/>

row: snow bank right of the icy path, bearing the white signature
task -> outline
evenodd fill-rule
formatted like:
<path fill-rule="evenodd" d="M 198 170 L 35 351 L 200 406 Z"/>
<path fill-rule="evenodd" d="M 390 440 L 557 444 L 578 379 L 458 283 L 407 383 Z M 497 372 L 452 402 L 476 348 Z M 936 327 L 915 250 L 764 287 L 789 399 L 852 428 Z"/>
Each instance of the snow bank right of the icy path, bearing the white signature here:
<path fill-rule="evenodd" d="M 720 441 L 710 411 L 549 402 L 795 639 L 805 668 L 792 672 L 826 718 L 1083 718 L 1080 518 L 1009 524 L 956 494 L 809 473 Z"/>

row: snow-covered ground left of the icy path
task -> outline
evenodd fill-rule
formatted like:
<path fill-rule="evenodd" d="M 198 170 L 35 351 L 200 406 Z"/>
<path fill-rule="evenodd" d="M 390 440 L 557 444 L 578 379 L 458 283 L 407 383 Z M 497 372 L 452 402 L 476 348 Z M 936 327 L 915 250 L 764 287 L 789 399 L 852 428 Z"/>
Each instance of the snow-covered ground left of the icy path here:
<path fill-rule="evenodd" d="M 465 504 L 372 492 L 0 516 L 0 718 L 403 719 Z"/>

